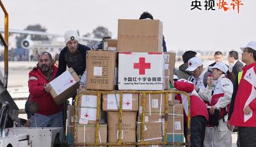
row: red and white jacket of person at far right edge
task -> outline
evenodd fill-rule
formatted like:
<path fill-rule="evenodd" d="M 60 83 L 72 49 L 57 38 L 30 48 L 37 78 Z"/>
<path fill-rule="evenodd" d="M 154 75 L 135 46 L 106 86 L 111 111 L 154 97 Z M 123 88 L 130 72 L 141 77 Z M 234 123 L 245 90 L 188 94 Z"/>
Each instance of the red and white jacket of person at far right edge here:
<path fill-rule="evenodd" d="M 244 107 L 249 105 L 252 112 L 244 115 Z M 234 111 L 229 120 L 230 125 L 238 127 L 256 127 L 256 63 L 244 66 L 239 83 Z"/>

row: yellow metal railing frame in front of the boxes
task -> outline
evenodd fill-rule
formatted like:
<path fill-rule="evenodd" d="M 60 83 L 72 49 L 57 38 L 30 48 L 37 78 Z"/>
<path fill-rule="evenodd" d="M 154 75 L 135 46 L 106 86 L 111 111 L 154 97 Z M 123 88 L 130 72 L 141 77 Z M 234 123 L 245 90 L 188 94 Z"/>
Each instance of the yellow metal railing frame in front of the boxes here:
<path fill-rule="evenodd" d="M 142 101 L 142 132 L 141 132 L 141 142 L 138 143 L 122 143 L 122 104 L 123 104 L 123 94 L 124 93 L 132 93 L 132 94 L 141 94 L 143 95 L 143 101 Z M 168 127 L 168 94 L 169 93 L 179 93 L 184 94 L 188 98 L 188 138 L 186 139 L 186 143 L 167 143 L 167 127 Z M 101 105 L 101 95 L 102 94 L 119 94 L 120 95 L 120 102 L 119 102 L 119 122 L 118 122 L 118 141 L 116 143 L 100 143 L 99 139 L 99 121 L 100 121 L 100 105 Z M 145 142 L 145 105 L 146 105 L 146 95 L 147 94 L 164 94 L 164 100 L 165 100 L 165 107 L 164 107 L 164 139 L 161 142 Z M 95 143 L 77 143 L 77 102 L 81 95 L 97 95 L 97 123 L 96 123 L 96 129 L 95 129 Z M 75 101 L 75 117 L 74 117 L 74 146 L 127 146 L 127 145 L 180 145 L 180 146 L 189 146 L 190 141 L 190 98 L 188 96 L 188 93 L 185 93 L 183 91 L 86 91 L 82 92 L 79 95 L 76 96 Z M 174 121 L 174 119 L 173 119 Z M 174 127 L 174 124 L 173 124 Z M 174 130 L 174 129 L 173 129 Z M 174 134 L 174 131 L 173 131 Z M 174 137 L 173 137 L 173 141 Z"/>

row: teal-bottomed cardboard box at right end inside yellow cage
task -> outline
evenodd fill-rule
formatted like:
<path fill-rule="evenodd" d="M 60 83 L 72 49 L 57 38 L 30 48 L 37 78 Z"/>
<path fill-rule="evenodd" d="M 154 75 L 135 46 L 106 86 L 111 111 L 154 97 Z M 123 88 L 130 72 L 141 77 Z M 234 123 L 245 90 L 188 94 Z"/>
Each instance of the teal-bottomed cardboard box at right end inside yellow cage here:
<path fill-rule="evenodd" d="M 184 142 L 184 118 L 182 104 L 171 105 L 168 110 L 167 142 L 173 143 L 173 141 L 175 143 Z"/>

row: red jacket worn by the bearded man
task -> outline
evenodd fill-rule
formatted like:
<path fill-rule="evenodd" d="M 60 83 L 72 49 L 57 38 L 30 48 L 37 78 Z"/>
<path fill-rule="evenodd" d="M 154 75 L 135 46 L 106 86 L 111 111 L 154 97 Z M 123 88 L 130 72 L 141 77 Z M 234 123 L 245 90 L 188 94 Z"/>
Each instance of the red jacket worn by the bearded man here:
<path fill-rule="evenodd" d="M 58 68 L 54 65 L 52 65 L 52 79 L 56 76 L 56 73 L 58 71 Z M 40 68 L 33 68 L 29 72 L 29 81 L 28 81 L 28 87 L 29 87 L 29 93 L 31 95 L 30 102 L 36 102 L 38 104 L 38 114 L 42 115 L 51 115 L 56 114 L 57 112 L 60 112 L 62 109 L 62 105 L 58 106 L 52 96 L 51 93 L 46 93 L 44 91 L 44 84 L 47 84 L 48 81 L 47 77 L 42 73 L 42 70 Z"/>

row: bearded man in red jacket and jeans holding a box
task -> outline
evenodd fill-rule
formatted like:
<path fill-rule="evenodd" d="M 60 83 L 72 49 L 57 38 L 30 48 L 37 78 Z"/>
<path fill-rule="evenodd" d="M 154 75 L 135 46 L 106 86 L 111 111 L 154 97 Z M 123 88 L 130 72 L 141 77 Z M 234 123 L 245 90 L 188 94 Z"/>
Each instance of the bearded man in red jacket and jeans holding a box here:
<path fill-rule="evenodd" d="M 38 64 L 29 72 L 29 102 L 38 105 L 31 127 L 63 127 L 61 109 L 51 96 L 51 87 L 45 86 L 56 77 L 58 68 L 52 65 L 52 56 L 49 52 L 38 54 Z"/>

